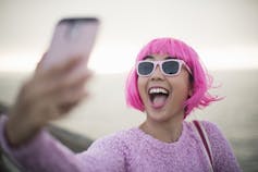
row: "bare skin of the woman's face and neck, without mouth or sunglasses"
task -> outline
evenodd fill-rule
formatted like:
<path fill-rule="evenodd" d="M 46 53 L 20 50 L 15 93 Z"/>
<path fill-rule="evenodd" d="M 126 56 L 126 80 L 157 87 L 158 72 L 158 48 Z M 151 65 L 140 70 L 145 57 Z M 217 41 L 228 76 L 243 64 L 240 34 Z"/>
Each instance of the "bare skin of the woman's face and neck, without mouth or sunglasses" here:
<path fill-rule="evenodd" d="M 165 60 L 169 56 L 152 54 L 151 57 L 148 60 Z M 139 76 L 137 86 L 147 114 L 145 122 L 139 127 L 146 134 L 161 142 L 176 142 L 183 130 L 183 103 L 192 95 L 187 70 L 182 66 L 179 75 L 165 76 L 158 65 L 151 76 Z M 148 95 L 150 87 L 162 87 L 170 91 L 170 96 L 162 108 L 157 109 L 151 106 Z"/>

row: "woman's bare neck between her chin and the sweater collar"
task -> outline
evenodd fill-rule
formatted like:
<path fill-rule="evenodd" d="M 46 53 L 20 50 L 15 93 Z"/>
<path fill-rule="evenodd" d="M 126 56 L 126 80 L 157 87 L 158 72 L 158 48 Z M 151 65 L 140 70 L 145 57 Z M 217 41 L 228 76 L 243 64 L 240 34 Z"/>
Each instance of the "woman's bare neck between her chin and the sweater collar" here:
<path fill-rule="evenodd" d="M 183 115 L 176 115 L 164 122 L 153 121 L 147 116 L 139 128 L 161 142 L 173 143 L 179 140 L 182 134 L 183 120 Z"/>

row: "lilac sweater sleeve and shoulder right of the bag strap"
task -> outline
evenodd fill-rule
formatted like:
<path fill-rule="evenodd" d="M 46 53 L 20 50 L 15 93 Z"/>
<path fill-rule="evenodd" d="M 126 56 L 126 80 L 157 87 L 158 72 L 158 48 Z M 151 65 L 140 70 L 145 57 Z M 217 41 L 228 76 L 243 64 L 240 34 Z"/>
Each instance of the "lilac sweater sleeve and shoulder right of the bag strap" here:
<path fill-rule="evenodd" d="M 216 172 L 238 172 L 239 164 L 234 156 L 233 149 L 219 127 L 208 121 L 202 121 L 202 125 L 208 134 Z"/>

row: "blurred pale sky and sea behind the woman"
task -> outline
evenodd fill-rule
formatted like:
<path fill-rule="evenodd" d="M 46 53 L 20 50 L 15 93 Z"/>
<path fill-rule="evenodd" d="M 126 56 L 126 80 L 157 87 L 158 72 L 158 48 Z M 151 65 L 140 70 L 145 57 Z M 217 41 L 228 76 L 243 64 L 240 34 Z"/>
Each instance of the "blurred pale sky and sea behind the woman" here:
<path fill-rule="evenodd" d="M 57 22 L 97 16 L 101 28 L 89 67 L 90 99 L 54 124 L 94 139 L 137 126 L 124 85 L 139 49 L 156 37 L 191 45 L 224 97 L 192 118 L 218 124 L 244 171 L 258 171 L 257 0 L 0 0 L 0 102 L 12 105 L 47 50 Z"/>

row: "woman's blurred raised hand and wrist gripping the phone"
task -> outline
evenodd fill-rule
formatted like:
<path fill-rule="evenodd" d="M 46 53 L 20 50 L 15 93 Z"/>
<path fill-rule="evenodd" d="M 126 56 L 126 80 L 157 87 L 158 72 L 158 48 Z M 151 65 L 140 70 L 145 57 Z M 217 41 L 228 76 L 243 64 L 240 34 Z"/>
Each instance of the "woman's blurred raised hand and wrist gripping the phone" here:
<path fill-rule="evenodd" d="M 82 60 L 74 58 L 48 71 L 41 70 L 39 63 L 34 76 L 23 85 L 10 111 L 5 135 L 12 146 L 26 143 L 49 121 L 67 114 L 85 98 L 85 84 L 90 72 L 83 75 L 72 73 Z"/>

